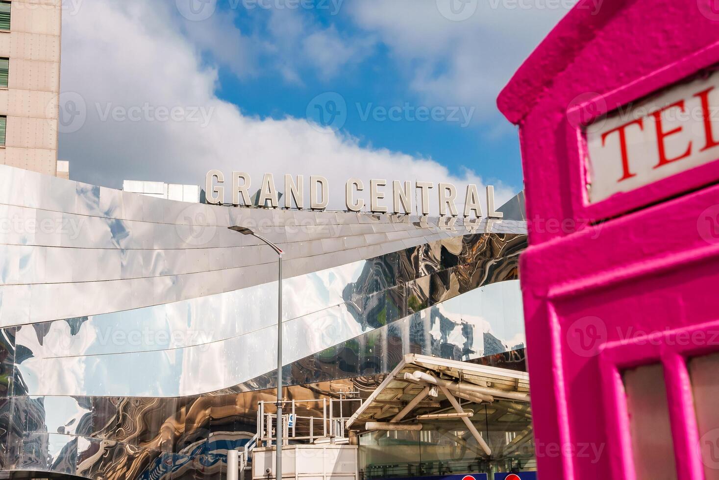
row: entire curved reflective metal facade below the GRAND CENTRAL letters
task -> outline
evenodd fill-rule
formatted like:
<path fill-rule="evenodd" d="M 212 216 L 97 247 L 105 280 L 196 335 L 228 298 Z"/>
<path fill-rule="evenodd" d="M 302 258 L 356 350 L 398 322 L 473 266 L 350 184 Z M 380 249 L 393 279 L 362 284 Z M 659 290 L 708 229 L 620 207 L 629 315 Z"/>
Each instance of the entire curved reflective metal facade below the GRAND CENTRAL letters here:
<path fill-rule="evenodd" d="M 1 469 L 219 478 L 275 385 L 275 254 L 231 225 L 287 252 L 290 395 L 369 393 L 406 353 L 523 364 L 521 221 L 188 205 L 0 165 Z"/>

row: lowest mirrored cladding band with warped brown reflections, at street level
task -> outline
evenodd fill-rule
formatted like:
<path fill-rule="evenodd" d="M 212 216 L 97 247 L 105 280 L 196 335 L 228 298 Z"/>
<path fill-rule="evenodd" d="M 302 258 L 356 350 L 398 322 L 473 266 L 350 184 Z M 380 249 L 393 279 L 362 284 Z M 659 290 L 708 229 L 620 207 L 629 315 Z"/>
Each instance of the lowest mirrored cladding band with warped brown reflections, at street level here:
<path fill-rule="evenodd" d="M 525 367 L 523 350 L 473 361 Z M 285 394 L 321 415 L 322 403 L 312 400 L 336 400 L 347 392 L 366 399 L 383 378 L 373 374 L 293 385 Z M 0 401 L 1 425 L 7 425 L 0 468 L 98 480 L 204 475 L 221 480 L 226 451 L 247 445 L 257 431 L 258 402 L 274 397 L 274 389 L 174 398 L 11 397 Z"/>

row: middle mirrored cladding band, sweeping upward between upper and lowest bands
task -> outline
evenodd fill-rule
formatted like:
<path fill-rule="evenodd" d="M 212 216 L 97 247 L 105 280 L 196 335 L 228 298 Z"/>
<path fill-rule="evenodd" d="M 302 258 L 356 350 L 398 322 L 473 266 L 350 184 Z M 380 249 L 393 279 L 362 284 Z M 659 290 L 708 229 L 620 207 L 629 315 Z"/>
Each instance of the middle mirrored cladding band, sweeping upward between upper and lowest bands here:
<path fill-rule="evenodd" d="M 511 280 L 522 246 L 517 235 L 454 237 L 288 279 L 283 303 L 293 318 L 283 324 L 284 363 L 410 315 L 464 324 L 444 334 L 467 336 L 462 348 L 473 353 L 485 351 L 480 330 L 495 338 L 498 346 L 487 347 L 493 352 L 523 343 L 516 338 L 520 290 Z M 275 364 L 275 343 L 267 339 L 277 335 L 276 289 L 263 284 L 179 305 L 6 328 L 16 350 L 10 393 L 175 397 L 243 384 Z"/>

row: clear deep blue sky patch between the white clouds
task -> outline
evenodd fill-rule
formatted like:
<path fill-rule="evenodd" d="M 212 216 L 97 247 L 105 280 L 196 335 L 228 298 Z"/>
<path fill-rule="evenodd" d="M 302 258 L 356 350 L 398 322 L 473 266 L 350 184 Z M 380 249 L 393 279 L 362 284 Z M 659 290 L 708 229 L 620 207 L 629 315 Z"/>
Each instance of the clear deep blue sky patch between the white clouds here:
<path fill-rule="evenodd" d="M 220 4 L 220 8 L 229 9 L 229 4 Z M 223 14 L 227 13 L 224 11 Z M 342 11 L 334 16 L 325 10 L 308 10 L 303 14 L 315 22 L 334 26 L 348 36 L 367 37 L 367 32 L 357 29 Z M 266 10 L 240 9 L 236 23 L 250 34 L 262 36 L 267 34 L 267 17 Z M 411 75 L 398 67 L 392 52 L 382 42 L 367 47 L 357 64 L 340 68 L 329 77 L 316 69 L 306 68 L 299 73 L 301 80 L 288 80 L 280 72 L 273 71 L 271 55 L 259 63 L 260 71 L 245 78 L 238 78 L 229 68 L 221 68 L 220 98 L 237 104 L 247 114 L 281 119 L 285 115 L 306 116 L 307 105 L 315 96 L 337 92 L 344 97 L 348 107 L 343 131 L 358 137 L 360 144 L 431 157 L 455 174 L 461 174 L 469 167 L 491 180 L 521 185 L 519 147 L 512 131 L 507 129 L 503 135 L 491 136 L 487 134 L 486 124 L 472 121 L 464 125 L 466 117 L 462 116 L 462 111 L 452 114 L 454 109 L 462 107 L 469 114 L 474 106 L 472 103 L 428 103 L 415 93 L 408 94 Z M 389 109 L 405 103 L 414 107 L 446 107 L 446 115 L 452 119 L 436 121 L 430 117 L 426 121 L 411 121 L 412 117 L 408 116 L 402 121 L 383 121 L 381 114 L 380 120 L 373 118 L 373 114 L 366 115 L 367 109 Z M 475 110 L 472 116 L 476 113 Z M 454 121 L 455 117 L 459 121 Z M 313 119 L 317 120 L 315 116 Z"/>

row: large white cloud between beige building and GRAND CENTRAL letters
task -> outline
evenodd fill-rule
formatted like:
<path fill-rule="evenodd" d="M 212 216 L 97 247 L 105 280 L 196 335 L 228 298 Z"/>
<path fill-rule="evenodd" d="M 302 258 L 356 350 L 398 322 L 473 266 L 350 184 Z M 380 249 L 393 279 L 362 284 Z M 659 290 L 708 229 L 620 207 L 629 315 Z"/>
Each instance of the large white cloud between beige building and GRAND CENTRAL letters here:
<path fill-rule="evenodd" d="M 449 181 L 459 192 L 464 183 L 483 184 L 473 172 L 457 177 L 427 158 L 362 148 L 305 119 L 242 114 L 216 96 L 217 72 L 203 64 L 177 17 L 143 0 L 93 0 L 65 17 L 62 90 L 80 94 L 87 110 L 82 128 L 60 137 L 73 178 L 117 187 L 124 179 L 202 184 L 212 168 L 246 170 L 255 185 L 265 171 L 324 175 L 335 208 L 344 207 L 348 177 Z M 162 109 L 186 117 L 203 109 L 211 117 L 206 126 L 167 121 Z M 123 112 L 139 120 L 119 120 Z M 497 187 L 499 203 L 518 190 Z"/>

